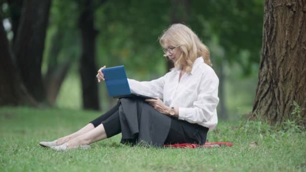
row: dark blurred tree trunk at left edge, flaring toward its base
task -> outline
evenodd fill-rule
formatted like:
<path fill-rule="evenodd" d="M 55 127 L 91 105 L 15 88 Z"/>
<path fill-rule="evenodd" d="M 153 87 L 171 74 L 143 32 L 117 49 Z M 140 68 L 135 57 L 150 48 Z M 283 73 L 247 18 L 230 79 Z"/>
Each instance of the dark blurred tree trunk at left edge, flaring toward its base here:
<path fill-rule="evenodd" d="M 0 16 L 0 21 L 2 18 Z M 3 25 L 0 25 L 0 106 L 3 105 L 36 105 L 28 95 L 13 63 L 9 41 Z"/>

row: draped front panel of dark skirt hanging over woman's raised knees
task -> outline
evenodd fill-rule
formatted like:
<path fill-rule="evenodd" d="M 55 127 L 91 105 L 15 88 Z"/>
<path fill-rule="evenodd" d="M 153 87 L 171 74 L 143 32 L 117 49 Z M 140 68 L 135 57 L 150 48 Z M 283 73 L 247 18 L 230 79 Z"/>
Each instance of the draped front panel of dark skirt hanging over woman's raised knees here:
<path fill-rule="evenodd" d="M 120 99 L 121 143 L 162 146 L 168 136 L 171 118 L 142 100 Z"/>

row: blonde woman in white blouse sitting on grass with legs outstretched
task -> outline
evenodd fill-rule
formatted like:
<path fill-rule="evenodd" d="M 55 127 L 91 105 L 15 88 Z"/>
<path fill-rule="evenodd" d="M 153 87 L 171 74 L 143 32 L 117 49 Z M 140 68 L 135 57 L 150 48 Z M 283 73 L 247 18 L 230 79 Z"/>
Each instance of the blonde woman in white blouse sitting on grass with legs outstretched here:
<path fill-rule="evenodd" d="M 88 148 L 91 143 L 119 133 L 121 143 L 132 145 L 204 144 L 208 129 L 217 125 L 219 102 L 218 77 L 210 67 L 209 51 L 182 24 L 168 28 L 160 37 L 160 44 L 175 68 L 151 81 L 128 79 L 132 93 L 157 100 L 122 98 L 79 131 L 40 145 L 55 150 Z M 99 82 L 104 80 L 101 69 L 97 74 Z"/>

